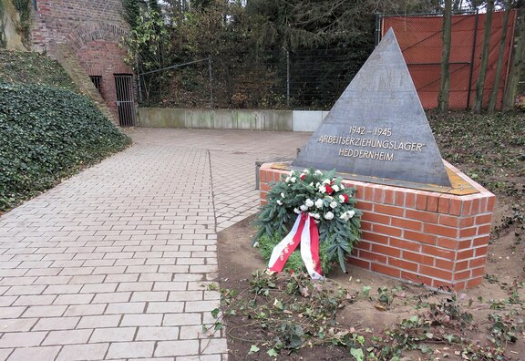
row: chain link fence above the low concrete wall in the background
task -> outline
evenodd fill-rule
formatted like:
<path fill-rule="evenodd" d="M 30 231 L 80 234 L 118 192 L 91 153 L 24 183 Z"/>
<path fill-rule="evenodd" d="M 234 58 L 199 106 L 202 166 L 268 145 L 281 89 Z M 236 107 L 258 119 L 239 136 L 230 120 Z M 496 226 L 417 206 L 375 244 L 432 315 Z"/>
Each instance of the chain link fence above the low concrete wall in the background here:
<path fill-rule="evenodd" d="M 329 109 L 368 49 L 313 49 L 209 57 L 139 74 L 143 107 Z"/>

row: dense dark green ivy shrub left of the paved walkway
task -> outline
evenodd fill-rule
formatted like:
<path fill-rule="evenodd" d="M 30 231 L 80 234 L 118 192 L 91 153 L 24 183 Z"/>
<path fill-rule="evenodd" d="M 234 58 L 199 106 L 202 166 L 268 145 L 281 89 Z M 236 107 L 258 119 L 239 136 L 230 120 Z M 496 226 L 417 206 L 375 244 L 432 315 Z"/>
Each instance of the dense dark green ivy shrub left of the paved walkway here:
<path fill-rule="evenodd" d="M 0 83 L 0 211 L 129 143 L 87 98 L 60 88 Z"/>

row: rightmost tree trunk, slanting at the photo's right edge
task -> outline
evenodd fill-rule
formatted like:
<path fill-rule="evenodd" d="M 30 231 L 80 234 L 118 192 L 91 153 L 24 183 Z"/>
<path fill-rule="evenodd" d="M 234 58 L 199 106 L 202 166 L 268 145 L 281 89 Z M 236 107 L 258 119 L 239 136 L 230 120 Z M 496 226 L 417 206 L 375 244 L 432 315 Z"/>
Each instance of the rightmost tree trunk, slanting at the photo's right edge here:
<path fill-rule="evenodd" d="M 510 72 L 507 80 L 507 89 L 503 98 L 503 110 L 512 110 L 518 94 L 518 85 L 520 84 L 523 59 L 525 57 L 525 5 L 521 4 L 518 10 L 518 19 L 516 25 L 516 36 L 514 38 L 514 51 L 512 62 L 510 63 Z"/>

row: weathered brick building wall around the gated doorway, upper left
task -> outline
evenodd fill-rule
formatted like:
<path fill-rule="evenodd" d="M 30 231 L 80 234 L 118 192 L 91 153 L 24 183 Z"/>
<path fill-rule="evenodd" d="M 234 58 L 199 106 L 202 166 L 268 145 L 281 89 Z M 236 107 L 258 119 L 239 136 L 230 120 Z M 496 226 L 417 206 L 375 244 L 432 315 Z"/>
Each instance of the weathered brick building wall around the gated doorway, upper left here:
<path fill-rule="evenodd" d="M 31 30 L 33 47 L 46 50 L 59 61 L 70 59 L 69 55 L 59 54 L 60 45 L 70 47 L 76 59 L 61 65 L 69 67 L 69 74 L 78 73 L 72 78 L 82 90 L 85 89 L 77 78 L 102 77 L 101 96 L 115 117 L 118 110 L 114 76 L 133 73 L 124 62 L 126 51 L 118 46 L 129 31 L 123 11 L 120 0 L 36 0 Z M 77 62 L 85 71 L 77 71 Z"/>

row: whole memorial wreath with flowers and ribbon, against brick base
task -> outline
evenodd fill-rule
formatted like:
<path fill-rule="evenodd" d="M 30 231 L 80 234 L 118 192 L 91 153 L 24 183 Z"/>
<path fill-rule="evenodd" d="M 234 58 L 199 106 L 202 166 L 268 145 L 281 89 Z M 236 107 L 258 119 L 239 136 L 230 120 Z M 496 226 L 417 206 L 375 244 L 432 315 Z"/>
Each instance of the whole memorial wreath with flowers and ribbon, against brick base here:
<path fill-rule="evenodd" d="M 346 256 L 359 240 L 362 212 L 355 209 L 355 189 L 345 188 L 341 180 L 335 170 L 309 169 L 292 170 L 286 179 L 271 183 L 253 239 L 269 262 L 269 272 L 305 268 L 312 278 L 321 279 L 335 263 L 346 272 Z M 298 246 L 300 251 L 295 251 Z"/>

